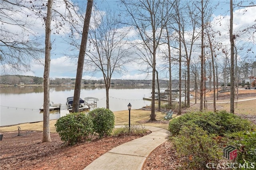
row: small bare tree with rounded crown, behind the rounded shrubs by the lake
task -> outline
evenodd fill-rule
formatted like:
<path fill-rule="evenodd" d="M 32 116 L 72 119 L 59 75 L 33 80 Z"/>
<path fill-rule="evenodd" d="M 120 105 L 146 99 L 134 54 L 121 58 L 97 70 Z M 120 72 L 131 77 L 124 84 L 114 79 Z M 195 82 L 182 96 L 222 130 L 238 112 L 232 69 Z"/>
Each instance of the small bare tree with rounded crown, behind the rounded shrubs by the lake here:
<path fill-rule="evenodd" d="M 131 50 L 126 41 L 130 29 L 125 28 L 121 24 L 121 16 L 111 10 L 106 13 L 98 10 L 92 18 L 90 45 L 86 51 L 87 69 L 93 69 L 93 73 L 102 73 L 106 89 L 106 108 L 109 109 L 112 75 L 122 74 L 126 71 L 124 66 L 131 61 Z"/>

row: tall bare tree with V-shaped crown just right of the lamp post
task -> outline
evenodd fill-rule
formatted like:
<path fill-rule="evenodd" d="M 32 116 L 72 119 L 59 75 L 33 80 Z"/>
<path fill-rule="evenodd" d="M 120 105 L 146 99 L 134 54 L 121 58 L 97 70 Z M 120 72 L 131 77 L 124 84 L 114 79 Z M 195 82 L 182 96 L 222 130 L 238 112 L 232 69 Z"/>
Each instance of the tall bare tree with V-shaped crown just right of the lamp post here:
<path fill-rule="evenodd" d="M 138 30 L 138 34 L 142 40 L 143 47 L 148 54 L 144 55 L 147 58 L 145 61 L 152 68 L 152 101 L 151 101 L 151 115 L 150 121 L 156 121 L 155 118 L 155 79 L 156 79 L 156 50 L 158 49 L 166 21 L 171 8 L 166 8 L 168 0 L 139 0 L 139 1 L 124 1 L 126 12 L 131 16 L 132 21 L 128 22 Z M 167 19 L 166 19 L 167 18 Z"/>

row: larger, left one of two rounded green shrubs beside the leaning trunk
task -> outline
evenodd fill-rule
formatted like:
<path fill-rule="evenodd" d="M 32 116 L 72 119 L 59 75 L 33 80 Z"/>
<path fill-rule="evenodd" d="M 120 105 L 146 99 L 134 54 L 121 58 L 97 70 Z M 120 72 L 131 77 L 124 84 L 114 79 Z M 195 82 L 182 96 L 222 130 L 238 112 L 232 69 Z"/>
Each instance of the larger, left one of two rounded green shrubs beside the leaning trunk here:
<path fill-rule="evenodd" d="M 92 118 L 84 113 L 70 113 L 60 117 L 55 127 L 61 140 L 70 145 L 89 140 L 88 136 L 93 133 Z"/>

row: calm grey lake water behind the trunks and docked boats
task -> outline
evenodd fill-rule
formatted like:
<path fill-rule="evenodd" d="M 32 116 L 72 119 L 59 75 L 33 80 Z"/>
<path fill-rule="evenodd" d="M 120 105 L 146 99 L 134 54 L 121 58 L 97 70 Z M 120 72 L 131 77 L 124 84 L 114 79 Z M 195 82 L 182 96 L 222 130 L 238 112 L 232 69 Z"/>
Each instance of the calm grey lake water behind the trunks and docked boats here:
<path fill-rule="evenodd" d="M 140 109 L 150 105 L 143 97 L 150 97 L 150 86 L 111 86 L 109 101 L 111 111 Z M 62 109 L 66 106 L 67 97 L 74 95 L 74 86 L 51 86 L 50 101 L 61 103 Z M 106 107 L 106 90 L 104 86 L 81 87 L 80 98 L 95 97 L 99 101 L 97 107 Z M 1 87 L 0 90 L 0 126 L 16 125 L 19 123 L 37 122 L 43 120 L 40 107 L 44 102 L 44 89 L 42 86 Z M 127 111 L 128 113 L 128 111 Z M 58 112 L 50 114 L 50 119 L 58 119 Z"/>

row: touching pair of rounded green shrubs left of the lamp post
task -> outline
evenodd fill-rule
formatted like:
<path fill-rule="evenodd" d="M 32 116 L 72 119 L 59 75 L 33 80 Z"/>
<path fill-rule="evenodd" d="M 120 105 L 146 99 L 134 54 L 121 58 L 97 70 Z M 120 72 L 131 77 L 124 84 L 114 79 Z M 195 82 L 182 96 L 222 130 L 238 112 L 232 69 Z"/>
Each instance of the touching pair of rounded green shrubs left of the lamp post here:
<path fill-rule="evenodd" d="M 87 113 L 70 113 L 60 117 L 55 124 L 62 141 L 74 145 L 96 134 L 109 136 L 114 128 L 114 113 L 109 109 L 94 109 Z"/>

